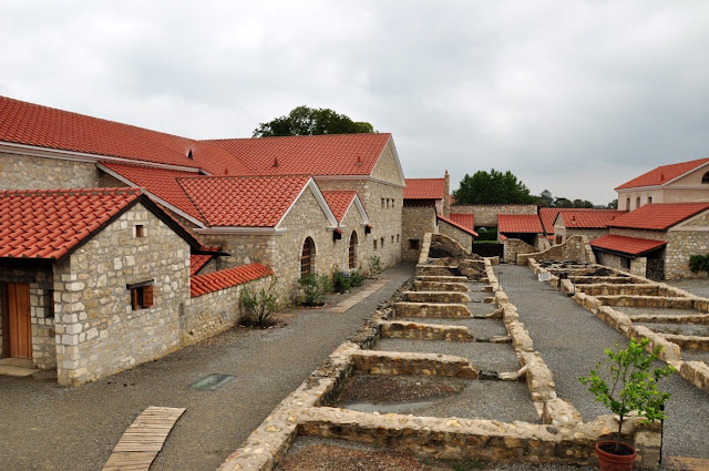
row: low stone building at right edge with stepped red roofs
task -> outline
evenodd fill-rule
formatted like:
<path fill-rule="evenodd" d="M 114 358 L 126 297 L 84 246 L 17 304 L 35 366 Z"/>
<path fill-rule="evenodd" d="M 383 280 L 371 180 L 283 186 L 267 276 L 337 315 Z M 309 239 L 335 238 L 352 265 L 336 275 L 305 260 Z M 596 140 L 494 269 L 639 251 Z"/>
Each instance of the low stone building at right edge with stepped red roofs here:
<path fill-rule="evenodd" d="M 709 253 L 709 203 L 651 203 L 608 223 L 590 242 L 598 263 L 650 279 L 705 278 L 691 255 Z"/>

